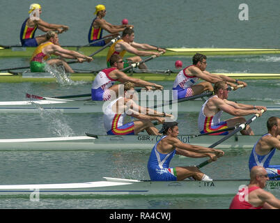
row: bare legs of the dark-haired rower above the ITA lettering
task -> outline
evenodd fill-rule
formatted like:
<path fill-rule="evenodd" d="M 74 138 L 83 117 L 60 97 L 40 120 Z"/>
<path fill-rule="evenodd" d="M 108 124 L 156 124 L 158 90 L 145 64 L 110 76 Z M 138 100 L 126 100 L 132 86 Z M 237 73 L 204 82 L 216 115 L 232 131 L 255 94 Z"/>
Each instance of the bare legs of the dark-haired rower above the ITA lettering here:
<path fill-rule="evenodd" d="M 195 180 L 202 180 L 203 174 L 197 167 L 176 167 L 177 180 L 185 180 L 192 177 Z"/>

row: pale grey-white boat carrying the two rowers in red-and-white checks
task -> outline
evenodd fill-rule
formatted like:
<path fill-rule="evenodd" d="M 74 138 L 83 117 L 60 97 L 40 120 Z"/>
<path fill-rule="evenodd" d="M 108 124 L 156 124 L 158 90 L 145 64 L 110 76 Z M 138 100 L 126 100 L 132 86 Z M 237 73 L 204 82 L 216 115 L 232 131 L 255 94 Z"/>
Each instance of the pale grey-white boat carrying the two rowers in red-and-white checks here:
<path fill-rule="evenodd" d="M 169 105 L 165 101 L 139 101 L 139 105 L 143 107 L 153 107 L 158 105 L 158 112 L 166 112 L 176 114 L 177 112 L 199 112 L 205 100 L 199 98 L 196 100 L 187 100 L 185 102 L 174 103 Z M 153 102 L 153 103 L 152 103 Z M 76 113 L 102 113 L 104 101 L 95 101 L 91 98 L 85 100 L 70 100 L 59 98 L 47 98 L 47 100 L 25 100 L 25 101 L 9 101 L 0 102 L 0 114 L 40 114 L 42 109 L 44 112 L 61 112 L 65 114 Z M 107 102 L 106 102 L 107 103 Z M 160 105 L 164 106 L 161 107 Z M 267 107 L 267 111 L 280 111 L 280 102 L 270 102 L 265 100 L 240 100 L 238 103 L 253 104 Z"/>

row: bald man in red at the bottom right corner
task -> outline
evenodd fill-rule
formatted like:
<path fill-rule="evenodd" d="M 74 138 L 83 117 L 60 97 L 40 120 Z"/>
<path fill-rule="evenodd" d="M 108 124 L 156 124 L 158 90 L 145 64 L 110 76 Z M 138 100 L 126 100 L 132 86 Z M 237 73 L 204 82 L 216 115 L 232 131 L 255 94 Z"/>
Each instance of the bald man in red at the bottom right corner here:
<path fill-rule="evenodd" d="M 250 183 L 242 187 L 231 201 L 230 209 L 275 209 L 280 208 L 280 200 L 270 192 L 263 190 L 267 180 L 267 171 L 263 167 L 253 167 L 250 171 Z"/>

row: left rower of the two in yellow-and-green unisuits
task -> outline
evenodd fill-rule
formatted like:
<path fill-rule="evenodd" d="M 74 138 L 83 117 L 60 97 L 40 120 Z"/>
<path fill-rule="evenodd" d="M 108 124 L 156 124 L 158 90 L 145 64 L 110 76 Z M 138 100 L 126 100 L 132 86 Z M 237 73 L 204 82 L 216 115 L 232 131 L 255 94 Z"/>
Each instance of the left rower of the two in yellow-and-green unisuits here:
<path fill-rule="evenodd" d="M 50 66 L 63 66 L 66 72 L 74 72 L 68 63 L 63 59 L 49 59 L 51 54 L 61 56 L 65 59 L 77 59 L 79 63 L 84 61 L 93 61 L 92 57 L 60 47 L 59 36 L 55 31 L 47 31 L 46 39 L 47 41 L 41 43 L 33 52 L 30 61 L 31 72 L 45 72 L 46 63 Z"/>

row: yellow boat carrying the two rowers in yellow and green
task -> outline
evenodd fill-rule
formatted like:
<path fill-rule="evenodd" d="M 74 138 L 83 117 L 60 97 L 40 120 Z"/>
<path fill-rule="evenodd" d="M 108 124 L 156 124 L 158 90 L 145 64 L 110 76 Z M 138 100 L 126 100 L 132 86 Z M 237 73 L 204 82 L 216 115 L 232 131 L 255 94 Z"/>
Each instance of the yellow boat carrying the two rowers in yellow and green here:
<path fill-rule="evenodd" d="M 177 72 L 133 72 L 130 75 L 135 78 L 146 81 L 174 81 Z M 226 75 L 237 79 L 280 79 L 277 73 L 214 73 L 217 75 Z M 67 77 L 72 81 L 93 82 L 96 72 L 75 72 L 68 73 Z M 0 72 L 0 82 L 18 83 L 18 82 L 57 82 L 49 72 Z"/>

